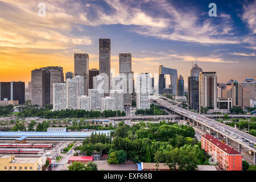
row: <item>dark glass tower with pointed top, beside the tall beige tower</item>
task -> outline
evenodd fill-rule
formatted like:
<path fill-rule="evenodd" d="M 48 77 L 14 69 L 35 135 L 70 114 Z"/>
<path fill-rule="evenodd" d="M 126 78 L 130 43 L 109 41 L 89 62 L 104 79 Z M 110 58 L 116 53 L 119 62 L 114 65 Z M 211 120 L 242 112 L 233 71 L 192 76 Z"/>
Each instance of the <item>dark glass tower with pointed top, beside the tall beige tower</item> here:
<path fill-rule="evenodd" d="M 197 64 L 193 66 L 188 77 L 188 108 L 199 110 L 199 76 L 203 69 Z"/>

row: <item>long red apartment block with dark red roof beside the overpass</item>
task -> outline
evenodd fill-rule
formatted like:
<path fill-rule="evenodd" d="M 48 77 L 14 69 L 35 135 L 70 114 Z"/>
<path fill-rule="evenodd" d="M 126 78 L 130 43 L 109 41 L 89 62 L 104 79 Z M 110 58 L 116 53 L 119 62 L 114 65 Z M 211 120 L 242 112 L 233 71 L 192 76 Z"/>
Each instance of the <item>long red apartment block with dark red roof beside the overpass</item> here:
<path fill-rule="evenodd" d="M 212 135 L 201 136 L 201 148 L 212 155 L 222 170 L 242 171 L 242 154 L 212 137 Z"/>

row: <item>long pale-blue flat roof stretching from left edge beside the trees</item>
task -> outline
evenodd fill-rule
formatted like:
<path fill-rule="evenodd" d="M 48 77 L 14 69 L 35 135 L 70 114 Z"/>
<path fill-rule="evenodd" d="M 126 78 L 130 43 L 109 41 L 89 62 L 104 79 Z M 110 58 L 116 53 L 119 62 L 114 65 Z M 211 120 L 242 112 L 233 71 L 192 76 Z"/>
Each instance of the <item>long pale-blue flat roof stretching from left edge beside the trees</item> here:
<path fill-rule="evenodd" d="M 0 131 L 0 137 L 90 137 L 92 133 L 110 134 L 111 130 L 89 132 L 20 132 Z"/>

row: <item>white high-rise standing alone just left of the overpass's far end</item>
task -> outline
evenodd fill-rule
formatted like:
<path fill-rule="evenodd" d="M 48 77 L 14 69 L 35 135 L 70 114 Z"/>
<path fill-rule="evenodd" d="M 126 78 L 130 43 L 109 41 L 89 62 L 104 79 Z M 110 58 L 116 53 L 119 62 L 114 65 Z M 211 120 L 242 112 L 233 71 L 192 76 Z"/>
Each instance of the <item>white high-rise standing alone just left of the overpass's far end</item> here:
<path fill-rule="evenodd" d="M 137 109 L 150 109 L 150 75 L 141 73 L 137 77 Z"/>

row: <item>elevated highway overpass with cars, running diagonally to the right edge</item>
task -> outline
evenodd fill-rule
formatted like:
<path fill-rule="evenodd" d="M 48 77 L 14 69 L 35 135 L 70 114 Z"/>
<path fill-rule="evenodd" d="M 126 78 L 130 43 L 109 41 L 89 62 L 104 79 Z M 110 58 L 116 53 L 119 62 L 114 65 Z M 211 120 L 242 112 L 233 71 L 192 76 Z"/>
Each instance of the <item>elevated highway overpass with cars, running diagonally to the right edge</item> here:
<path fill-rule="evenodd" d="M 234 129 L 228 125 L 223 123 L 214 121 L 213 119 L 207 118 L 204 115 L 200 115 L 189 111 L 187 109 L 183 109 L 182 107 L 178 107 L 176 105 L 171 104 L 168 100 L 163 100 L 157 96 L 151 96 L 151 100 L 155 100 L 163 107 L 171 110 L 172 114 L 177 114 L 180 118 L 188 119 L 189 122 L 193 122 L 193 125 L 201 125 L 202 128 L 207 127 L 209 129 L 209 134 L 212 134 L 212 131 L 216 131 L 217 137 L 219 134 L 222 134 L 226 137 L 226 144 L 228 144 L 229 140 L 234 140 L 238 143 L 238 151 L 241 152 L 241 146 L 247 148 L 247 150 L 251 150 L 254 152 L 254 165 L 256 165 L 256 137 L 253 135 L 249 135 L 244 133 L 243 131 Z"/>

